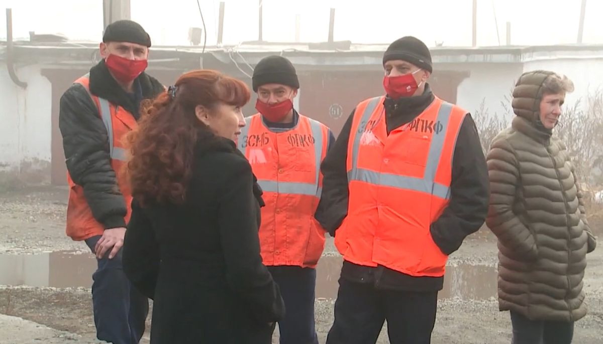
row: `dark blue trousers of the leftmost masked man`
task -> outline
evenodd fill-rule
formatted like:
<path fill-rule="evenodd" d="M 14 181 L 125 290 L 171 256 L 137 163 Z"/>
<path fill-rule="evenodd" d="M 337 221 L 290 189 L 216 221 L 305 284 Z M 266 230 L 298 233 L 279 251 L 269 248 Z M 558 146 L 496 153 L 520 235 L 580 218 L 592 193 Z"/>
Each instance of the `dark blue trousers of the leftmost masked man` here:
<path fill-rule="evenodd" d="M 95 236 L 86 240 L 92 253 L 100 238 Z M 96 260 L 98 268 L 92 275 L 96 337 L 113 344 L 137 344 L 145 332 L 148 299 L 125 277 L 122 250 L 113 259 L 107 256 Z"/>

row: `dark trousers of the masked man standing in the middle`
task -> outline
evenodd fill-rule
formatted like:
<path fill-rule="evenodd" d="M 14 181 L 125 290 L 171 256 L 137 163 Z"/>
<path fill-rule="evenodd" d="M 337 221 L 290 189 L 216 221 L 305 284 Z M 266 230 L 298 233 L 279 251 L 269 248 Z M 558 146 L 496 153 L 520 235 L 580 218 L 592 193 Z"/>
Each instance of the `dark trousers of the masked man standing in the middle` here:
<path fill-rule="evenodd" d="M 268 266 L 285 301 L 279 321 L 280 344 L 318 344 L 314 328 L 316 270 L 299 266 Z"/>

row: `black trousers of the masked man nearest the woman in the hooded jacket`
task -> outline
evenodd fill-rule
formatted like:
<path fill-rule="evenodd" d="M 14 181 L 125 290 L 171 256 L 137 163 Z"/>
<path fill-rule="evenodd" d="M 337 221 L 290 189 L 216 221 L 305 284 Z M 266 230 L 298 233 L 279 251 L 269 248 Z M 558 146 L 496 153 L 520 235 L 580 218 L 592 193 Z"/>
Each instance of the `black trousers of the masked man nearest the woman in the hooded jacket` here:
<path fill-rule="evenodd" d="M 380 290 L 339 278 L 327 344 L 375 343 L 385 320 L 391 344 L 428 344 L 437 303 L 438 292 Z"/>

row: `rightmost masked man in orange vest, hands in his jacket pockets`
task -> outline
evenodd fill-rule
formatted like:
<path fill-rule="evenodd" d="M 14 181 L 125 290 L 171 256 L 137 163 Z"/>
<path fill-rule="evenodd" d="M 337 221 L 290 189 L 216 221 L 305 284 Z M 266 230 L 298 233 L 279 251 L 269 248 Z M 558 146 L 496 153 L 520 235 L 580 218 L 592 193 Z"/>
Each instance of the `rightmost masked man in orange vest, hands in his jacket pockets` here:
<path fill-rule="evenodd" d="M 328 344 L 431 341 L 447 256 L 484 223 L 488 173 L 471 115 L 435 96 L 415 37 L 383 57 L 385 96 L 356 106 L 323 161 L 317 218 L 344 263 Z"/>

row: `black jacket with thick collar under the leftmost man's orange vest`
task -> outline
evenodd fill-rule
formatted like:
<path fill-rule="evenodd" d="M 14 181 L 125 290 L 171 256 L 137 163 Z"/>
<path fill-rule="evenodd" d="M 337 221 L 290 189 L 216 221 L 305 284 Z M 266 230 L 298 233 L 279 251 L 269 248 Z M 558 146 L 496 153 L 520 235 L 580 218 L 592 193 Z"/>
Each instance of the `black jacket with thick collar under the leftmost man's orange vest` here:
<path fill-rule="evenodd" d="M 90 69 L 90 93 L 124 108 L 138 119 L 140 101 L 163 91 L 157 79 L 142 73 L 130 95 L 113 79 L 104 60 Z M 73 84 L 61 97 L 58 127 L 63 135 L 67 170 L 74 183 L 84 189 L 92 215 L 104 228 L 125 227 L 124 196 L 117 188 L 116 171 L 111 167 L 109 138 L 98 108 L 80 84 Z M 119 171 L 117 171 L 119 172 Z"/>

